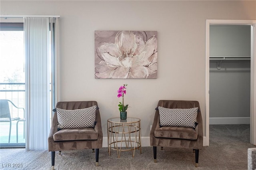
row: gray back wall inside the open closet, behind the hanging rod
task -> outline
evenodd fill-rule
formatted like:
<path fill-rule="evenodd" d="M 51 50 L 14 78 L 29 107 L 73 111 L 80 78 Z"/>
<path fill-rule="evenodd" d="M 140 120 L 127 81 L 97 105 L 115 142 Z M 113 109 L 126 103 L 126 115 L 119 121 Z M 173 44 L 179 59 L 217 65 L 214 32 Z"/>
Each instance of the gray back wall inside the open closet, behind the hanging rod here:
<path fill-rule="evenodd" d="M 250 34 L 250 26 L 210 26 L 210 124 L 250 123 Z"/>

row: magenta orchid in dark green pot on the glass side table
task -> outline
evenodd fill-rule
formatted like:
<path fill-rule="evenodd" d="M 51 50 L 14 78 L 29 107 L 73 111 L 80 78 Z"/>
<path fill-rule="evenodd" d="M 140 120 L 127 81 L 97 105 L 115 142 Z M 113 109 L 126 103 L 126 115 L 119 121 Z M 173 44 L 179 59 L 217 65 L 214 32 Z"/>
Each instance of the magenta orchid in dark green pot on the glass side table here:
<path fill-rule="evenodd" d="M 124 95 L 126 94 L 126 86 L 127 84 L 124 84 L 119 87 L 117 93 L 117 97 L 122 97 L 122 103 L 119 102 L 118 107 L 120 111 L 120 119 L 126 119 L 127 118 L 127 112 L 126 110 L 128 109 L 128 105 L 124 105 Z"/>

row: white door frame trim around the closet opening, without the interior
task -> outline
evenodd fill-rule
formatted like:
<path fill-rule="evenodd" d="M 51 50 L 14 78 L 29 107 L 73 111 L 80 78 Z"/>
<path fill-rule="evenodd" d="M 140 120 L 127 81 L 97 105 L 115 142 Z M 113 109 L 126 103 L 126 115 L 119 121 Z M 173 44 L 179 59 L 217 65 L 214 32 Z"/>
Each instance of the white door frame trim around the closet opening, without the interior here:
<path fill-rule="evenodd" d="M 210 114 L 210 25 L 211 24 L 236 24 L 251 25 L 253 34 L 251 35 L 251 96 L 250 96 L 250 143 L 256 145 L 256 20 L 206 20 L 206 141 L 205 146 L 209 146 L 209 114 Z"/>

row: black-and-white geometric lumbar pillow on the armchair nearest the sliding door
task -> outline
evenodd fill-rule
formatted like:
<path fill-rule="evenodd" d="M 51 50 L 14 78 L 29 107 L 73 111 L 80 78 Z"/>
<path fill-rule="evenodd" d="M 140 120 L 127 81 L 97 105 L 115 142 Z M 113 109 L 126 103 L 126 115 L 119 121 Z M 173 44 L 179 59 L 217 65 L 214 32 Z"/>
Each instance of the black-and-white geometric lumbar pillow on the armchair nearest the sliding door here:
<path fill-rule="evenodd" d="M 56 108 L 58 130 L 63 128 L 94 128 L 97 106 L 85 109 L 65 110 Z"/>

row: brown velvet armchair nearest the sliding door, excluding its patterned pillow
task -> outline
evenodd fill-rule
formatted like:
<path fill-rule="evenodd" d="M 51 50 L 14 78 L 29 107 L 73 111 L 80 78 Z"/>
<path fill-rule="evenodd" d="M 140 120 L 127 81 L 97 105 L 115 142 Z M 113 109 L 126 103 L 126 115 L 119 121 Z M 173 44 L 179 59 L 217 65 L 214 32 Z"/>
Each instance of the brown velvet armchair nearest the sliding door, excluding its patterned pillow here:
<path fill-rule="evenodd" d="M 98 166 L 99 149 L 102 148 L 102 127 L 100 119 L 100 111 L 96 101 L 69 101 L 58 102 L 56 108 L 65 110 L 84 109 L 93 106 L 96 109 L 96 125 L 94 128 L 70 128 L 58 130 L 57 113 L 54 113 L 52 119 L 52 127 L 48 137 L 48 151 L 51 152 L 52 170 L 54 170 L 55 151 L 62 150 L 83 150 L 92 149 L 96 152 L 96 166 Z"/>

